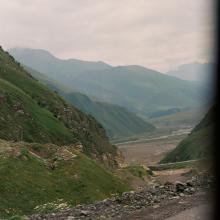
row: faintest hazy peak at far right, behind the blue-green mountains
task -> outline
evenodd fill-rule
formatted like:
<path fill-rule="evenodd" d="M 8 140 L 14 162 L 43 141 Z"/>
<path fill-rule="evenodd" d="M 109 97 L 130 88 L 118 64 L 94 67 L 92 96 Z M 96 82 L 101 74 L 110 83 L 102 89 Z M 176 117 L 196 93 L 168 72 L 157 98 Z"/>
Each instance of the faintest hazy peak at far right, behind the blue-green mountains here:
<path fill-rule="evenodd" d="M 168 71 L 167 74 L 177 78 L 213 84 L 216 64 L 215 63 L 188 63 L 179 66 L 176 70 Z"/>

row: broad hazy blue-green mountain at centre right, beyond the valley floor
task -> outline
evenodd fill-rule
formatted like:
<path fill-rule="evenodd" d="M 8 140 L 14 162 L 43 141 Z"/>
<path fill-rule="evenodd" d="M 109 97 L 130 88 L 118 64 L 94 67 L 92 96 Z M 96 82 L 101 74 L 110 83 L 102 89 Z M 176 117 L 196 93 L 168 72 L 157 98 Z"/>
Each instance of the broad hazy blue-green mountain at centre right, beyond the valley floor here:
<path fill-rule="evenodd" d="M 199 85 L 139 66 L 84 73 L 72 84 L 81 92 L 142 114 L 197 106 L 208 100 Z"/>

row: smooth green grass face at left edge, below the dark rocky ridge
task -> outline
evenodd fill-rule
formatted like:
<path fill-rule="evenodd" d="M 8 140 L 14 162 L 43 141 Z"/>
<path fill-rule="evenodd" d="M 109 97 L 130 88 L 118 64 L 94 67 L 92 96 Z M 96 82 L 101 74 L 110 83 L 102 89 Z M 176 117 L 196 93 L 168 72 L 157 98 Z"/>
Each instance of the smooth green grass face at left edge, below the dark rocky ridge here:
<path fill-rule="evenodd" d="M 18 87 L 0 79 L 0 93 L 5 94 L 0 111 L 0 136 L 6 140 L 66 143 L 74 140 L 71 132 L 54 118 L 51 112 L 40 108 Z M 19 113 L 12 106 L 22 102 Z M 13 127 L 13 129 L 12 129 Z"/>

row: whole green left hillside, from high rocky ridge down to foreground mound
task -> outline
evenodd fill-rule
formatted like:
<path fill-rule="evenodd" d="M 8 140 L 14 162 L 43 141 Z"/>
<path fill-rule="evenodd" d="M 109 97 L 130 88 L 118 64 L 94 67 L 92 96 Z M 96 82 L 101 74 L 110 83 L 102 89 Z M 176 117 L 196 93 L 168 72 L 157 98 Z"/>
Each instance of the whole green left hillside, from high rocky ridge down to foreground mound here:
<path fill-rule="evenodd" d="M 0 47 L 1 219 L 62 211 L 131 189 L 112 172 L 119 159 L 94 118 Z"/>

